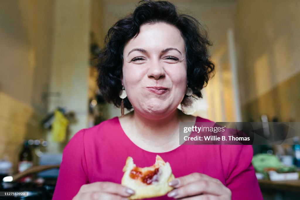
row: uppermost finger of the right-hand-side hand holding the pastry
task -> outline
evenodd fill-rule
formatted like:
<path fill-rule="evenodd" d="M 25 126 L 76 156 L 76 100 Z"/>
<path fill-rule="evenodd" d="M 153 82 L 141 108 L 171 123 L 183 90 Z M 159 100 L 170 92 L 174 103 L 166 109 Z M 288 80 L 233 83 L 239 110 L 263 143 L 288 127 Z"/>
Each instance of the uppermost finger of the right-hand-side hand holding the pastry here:
<path fill-rule="evenodd" d="M 205 175 L 205 174 L 200 174 L 200 173 L 193 173 L 193 174 L 189 174 L 189 175 L 186 175 L 186 176 L 176 178 L 176 179 L 172 180 L 171 182 L 169 182 L 169 185 L 173 186 L 175 188 L 178 188 L 178 187 L 187 185 L 189 183 L 196 182 L 198 180 L 211 180 L 215 183 L 219 183 L 219 184 L 223 185 L 223 183 L 221 183 L 221 181 L 219 179 L 210 177 L 210 176 Z"/>

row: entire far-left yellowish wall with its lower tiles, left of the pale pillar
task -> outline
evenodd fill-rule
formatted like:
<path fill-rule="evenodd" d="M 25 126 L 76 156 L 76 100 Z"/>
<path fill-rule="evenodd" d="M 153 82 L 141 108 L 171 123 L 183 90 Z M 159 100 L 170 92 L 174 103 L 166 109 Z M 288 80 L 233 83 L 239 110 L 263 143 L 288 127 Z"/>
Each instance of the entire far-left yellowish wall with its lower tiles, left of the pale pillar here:
<path fill-rule="evenodd" d="M 51 1 L 1 1 L 0 159 L 14 164 L 24 138 L 45 137 L 52 10 Z"/>

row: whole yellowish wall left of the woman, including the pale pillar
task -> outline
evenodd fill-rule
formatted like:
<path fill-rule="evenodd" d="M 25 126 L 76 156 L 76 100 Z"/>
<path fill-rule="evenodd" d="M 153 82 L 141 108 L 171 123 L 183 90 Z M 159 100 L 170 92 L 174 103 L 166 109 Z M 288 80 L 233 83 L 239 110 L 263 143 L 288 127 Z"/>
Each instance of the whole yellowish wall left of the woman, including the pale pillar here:
<path fill-rule="evenodd" d="M 0 6 L 0 159 L 16 163 L 23 139 L 48 152 L 87 127 L 90 1 L 10 0 Z M 57 106 L 76 115 L 66 142 L 41 126 Z"/>

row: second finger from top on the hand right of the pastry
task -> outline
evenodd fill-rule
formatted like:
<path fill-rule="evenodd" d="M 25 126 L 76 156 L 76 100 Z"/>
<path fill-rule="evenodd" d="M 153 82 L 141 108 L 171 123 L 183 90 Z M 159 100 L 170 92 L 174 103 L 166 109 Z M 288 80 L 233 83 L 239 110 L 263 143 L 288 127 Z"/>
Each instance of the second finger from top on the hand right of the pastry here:
<path fill-rule="evenodd" d="M 216 183 L 212 180 L 198 180 L 174 189 L 168 194 L 168 196 L 173 198 L 183 198 L 187 196 L 200 195 L 203 193 L 223 195 L 225 192 L 227 193 L 226 189 L 227 188 L 224 185 Z"/>

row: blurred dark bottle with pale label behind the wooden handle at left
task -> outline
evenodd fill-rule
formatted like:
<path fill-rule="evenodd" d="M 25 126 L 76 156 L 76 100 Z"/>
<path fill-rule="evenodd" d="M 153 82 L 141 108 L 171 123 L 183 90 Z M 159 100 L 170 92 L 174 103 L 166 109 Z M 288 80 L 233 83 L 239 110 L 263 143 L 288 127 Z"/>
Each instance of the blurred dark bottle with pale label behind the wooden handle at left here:
<path fill-rule="evenodd" d="M 19 163 L 18 163 L 18 172 L 23 172 L 28 168 L 31 168 L 33 166 L 33 156 L 32 156 L 32 150 L 29 146 L 29 143 L 27 140 L 23 141 L 23 149 L 21 153 L 19 154 Z M 30 182 L 32 181 L 32 177 L 24 177 L 20 180 L 20 182 Z"/>

